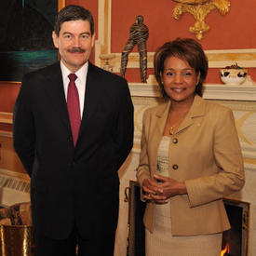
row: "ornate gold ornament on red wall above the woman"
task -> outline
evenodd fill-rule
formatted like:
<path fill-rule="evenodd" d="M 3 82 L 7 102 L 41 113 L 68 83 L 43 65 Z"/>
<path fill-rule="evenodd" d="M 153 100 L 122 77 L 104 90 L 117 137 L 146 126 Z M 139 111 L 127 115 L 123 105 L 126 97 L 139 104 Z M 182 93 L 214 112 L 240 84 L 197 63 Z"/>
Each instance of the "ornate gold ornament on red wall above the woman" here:
<path fill-rule="evenodd" d="M 178 3 L 173 9 L 173 17 L 179 20 L 183 12 L 191 13 L 195 18 L 194 27 L 189 31 L 196 34 L 198 40 L 203 38 L 203 33 L 209 31 L 209 25 L 205 18 L 215 8 L 224 15 L 229 12 L 230 2 L 228 0 L 172 0 Z"/>

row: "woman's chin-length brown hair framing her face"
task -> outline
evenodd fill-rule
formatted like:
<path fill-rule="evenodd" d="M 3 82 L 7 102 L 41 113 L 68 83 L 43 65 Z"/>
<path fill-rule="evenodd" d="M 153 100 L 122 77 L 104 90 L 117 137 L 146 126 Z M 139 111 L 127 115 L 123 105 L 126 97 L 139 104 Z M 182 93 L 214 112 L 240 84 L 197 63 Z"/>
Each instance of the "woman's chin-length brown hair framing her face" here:
<path fill-rule="evenodd" d="M 194 39 L 177 38 L 174 41 L 165 43 L 155 52 L 155 78 L 159 87 L 162 89 L 163 97 L 168 98 L 168 95 L 162 84 L 161 74 L 164 73 L 165 61 L 168 59 L 168 57 L 172 56 L 183 61 L 187 61 L 188 64 L 195 69 L 195 74 L 200 75 L 199 82 L 195 88 L 195 93 L 202 96 L 203 83 L 208 73 L 208 58 L 201 45 Z"/>

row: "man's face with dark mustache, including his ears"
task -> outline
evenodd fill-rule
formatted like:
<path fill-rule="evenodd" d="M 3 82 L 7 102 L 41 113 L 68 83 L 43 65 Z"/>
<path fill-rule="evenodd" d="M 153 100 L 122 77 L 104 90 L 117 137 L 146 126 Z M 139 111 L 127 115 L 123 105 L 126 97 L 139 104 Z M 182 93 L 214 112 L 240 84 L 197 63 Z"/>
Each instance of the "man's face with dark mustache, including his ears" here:
<path fill-rule="evenodd" d="M 91 34 L 88 20 L 70 20 L 61 24 L 59 36 L 52 33 L 52 39 L 59 48 L 61 61 L 75 73 L 88 61 L 95 34 Z"/>

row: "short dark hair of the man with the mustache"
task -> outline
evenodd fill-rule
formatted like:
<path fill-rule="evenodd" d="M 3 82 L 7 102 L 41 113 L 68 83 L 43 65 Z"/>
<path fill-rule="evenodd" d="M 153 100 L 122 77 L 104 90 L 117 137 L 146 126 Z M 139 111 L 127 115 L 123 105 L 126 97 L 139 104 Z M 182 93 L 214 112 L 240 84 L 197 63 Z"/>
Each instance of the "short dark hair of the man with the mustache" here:
<path fill-rule="evenodd" d="M 94 34 L 94 21 L 90 11 L 84 7 L 74 5 L 63 7 L 58 13 L 55 20 L 54 32 L 59 36 L 62 23 L 70 20 L 88 20 L 90 33 Z"/>

